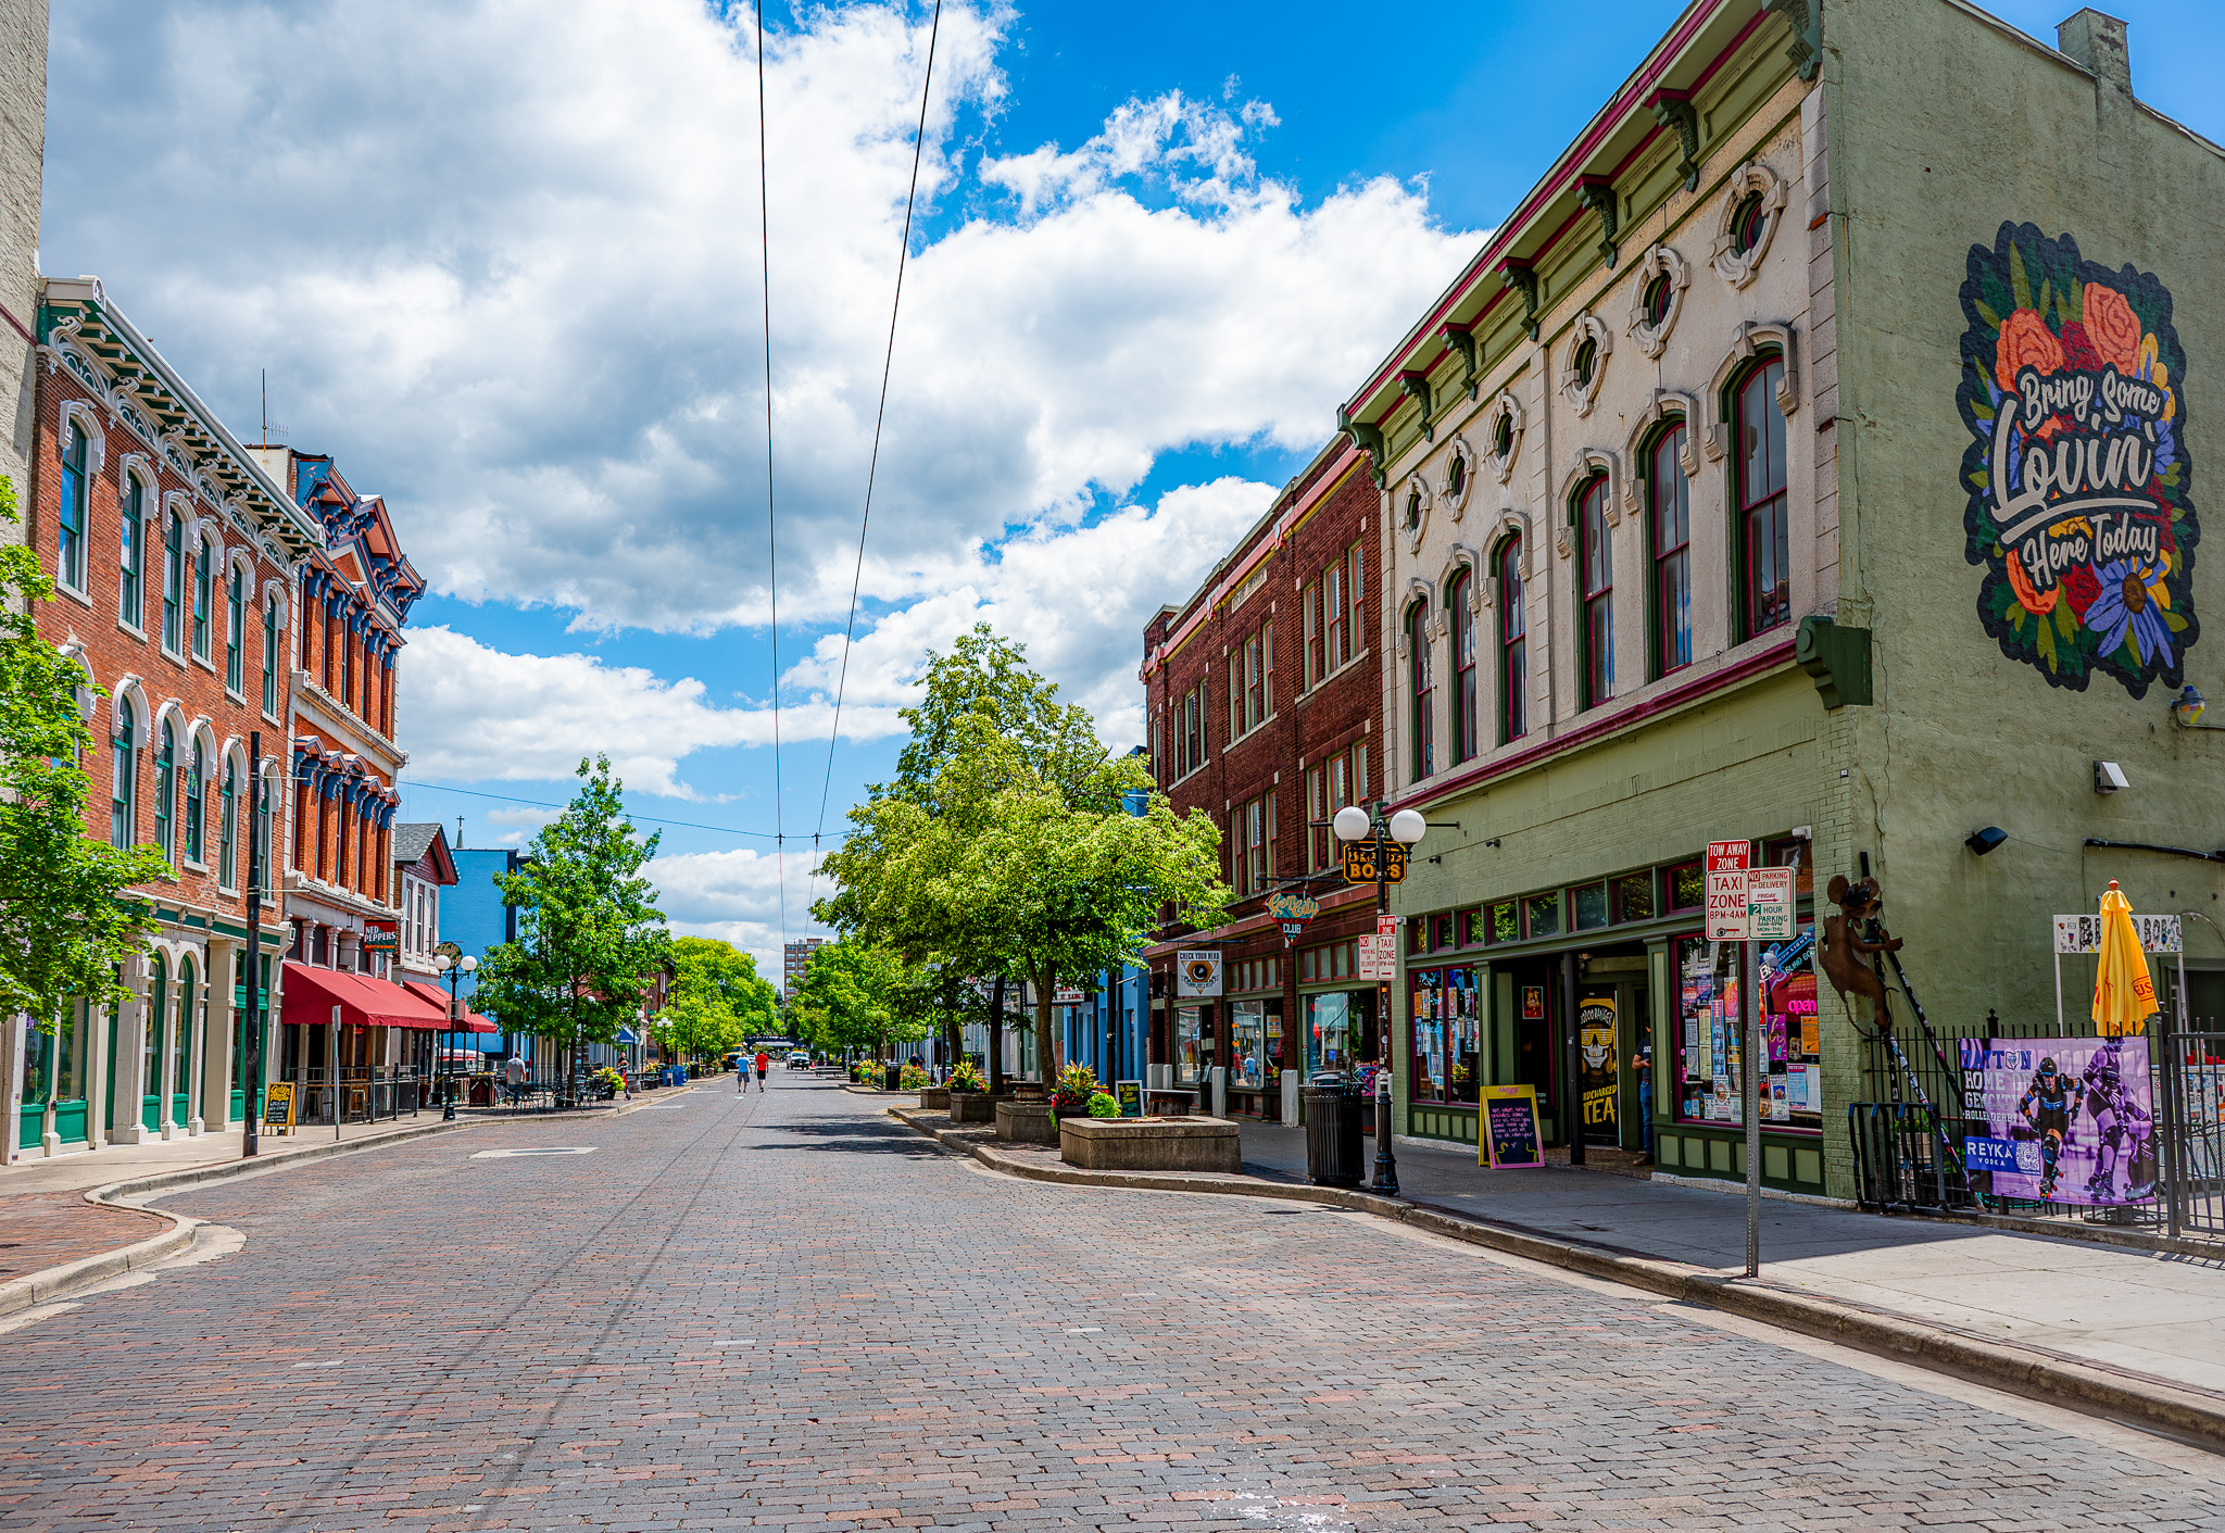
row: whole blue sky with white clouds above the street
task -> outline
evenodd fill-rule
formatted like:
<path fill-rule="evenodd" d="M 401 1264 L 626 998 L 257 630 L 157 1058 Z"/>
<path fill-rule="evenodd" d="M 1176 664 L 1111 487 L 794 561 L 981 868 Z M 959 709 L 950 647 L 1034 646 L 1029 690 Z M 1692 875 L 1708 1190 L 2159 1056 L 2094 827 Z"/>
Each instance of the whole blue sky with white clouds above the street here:
<path fill-rule="evenodd" d="M 2120 11 L 2143 98 L 2225 138 L 2221 7 Z M 763 957 L 783 892 L 808 930 L 821 797 L 839 830 L 963 625 L 1137 739 L 1148 612 L 1675 13 L 946 4 L 830 772 L 928 9 L 777 0 L 779 814 L 748 11 L 56 0 L 42 265 L 100 274 L 243 436 L 267 367 L 287 438 L 389 496 L 434 585 L 409 817 L 527 837 L 607 750 L 639 814 L 723 828 L 665 828 L 668 910 Z"/>

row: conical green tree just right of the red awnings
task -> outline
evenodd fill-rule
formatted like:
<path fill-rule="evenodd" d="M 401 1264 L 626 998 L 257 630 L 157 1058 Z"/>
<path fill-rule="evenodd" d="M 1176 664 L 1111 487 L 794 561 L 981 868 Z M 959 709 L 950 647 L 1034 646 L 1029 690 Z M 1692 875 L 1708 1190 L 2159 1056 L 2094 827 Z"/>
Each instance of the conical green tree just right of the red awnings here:
<path fill-rule="evenodd" d="M 581 1046 L 614 1044 L 641 1015 L 672 946 L 656 888 L 641 877 L 656 837 L 634 834 L 610 756 L 581 761 L 578 777 L 585 785 L 532 839 L 518 872 L 494 874 L 518 912 L 518 939 L 487 950 L 474 997 L 505 1028 L 558 1039 L 574 1075 Z"/>

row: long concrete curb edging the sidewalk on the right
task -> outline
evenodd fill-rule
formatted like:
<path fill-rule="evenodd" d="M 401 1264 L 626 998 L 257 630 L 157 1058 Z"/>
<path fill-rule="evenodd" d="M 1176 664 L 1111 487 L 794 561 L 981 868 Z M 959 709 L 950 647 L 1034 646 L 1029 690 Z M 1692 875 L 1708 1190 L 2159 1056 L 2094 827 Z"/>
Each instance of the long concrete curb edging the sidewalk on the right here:
<path fill-rule="evenodd" d="M 1624 1255 L 1604 1246 L 1586 1246 L 1558 1235 L 1535 1235 L 1506 1224 L 1486 1224 L 1466 1215 L 1453 1215 L 1426 1204 L 1411 1204 L 1402 1197 L 1375 1197 L 1348 1188 L 1324 1188 L 1311 1184 L 1277 1184 L 1246 1177 L 1244 1181 L 1208 1175 L 1144 1173 L 1144 1170 L 1081 1170 L 1077 1166 L 1035 1166 L 1015 1161 L 997 1150 L 995 1139 L 983 1141 L 979 1130 L 928 1128 L 914 1121 L 903 1108 L 888 1108 L 888 1115 L 906 1128 L 926 1135 L 943 1148 L 972 1155 L 983 1166 L 1030 1181 L 1059 1181 L 1068 1186 L 1106 1186 L 1150 1193 L 1219 1193 L 1228 1197 L 1275 1197 L 1304 1204 L 1331 1204 L 1355 1213 L 1371 1213 L 1382 1219 L 1397 1219 L 1431 1235 L 1504 1250 L 1509 1255 L 1558 1266 L 1584 1277 L 1598 1277 L 1629 1288 L 1642 1288 L 1664 1299 L 1700 1304 L 1758 1319 L 1784 1331 L 1822 1337 L 1865 1353 L 1916 1364 L 1934 1373 L 1949 1373 L 1994 1388 L 2009 1388 L 2034 1400 L 2045 1400 L 2085 1415 L 2100 1415 L 2123 1424 L 2158 1431 L 2183 1442 L 2225 1453 L 2225 1397 L 2207 1391 L 2154 1379 L 2138 1373 L 2103 1368 L 2098 1364 L 2043 1353 L 2036 1348 L 2007 1346 L 1980 1337 L 1960 1335 L 1945 1326 L 1907 1319 L 1887 1311 L 1871 1311 L 1842 1299 L 1820 1299 L 1787 1288 L 1756 1284 L 1744 1277 L 1664 1262 L 1658 1257 Z"/>

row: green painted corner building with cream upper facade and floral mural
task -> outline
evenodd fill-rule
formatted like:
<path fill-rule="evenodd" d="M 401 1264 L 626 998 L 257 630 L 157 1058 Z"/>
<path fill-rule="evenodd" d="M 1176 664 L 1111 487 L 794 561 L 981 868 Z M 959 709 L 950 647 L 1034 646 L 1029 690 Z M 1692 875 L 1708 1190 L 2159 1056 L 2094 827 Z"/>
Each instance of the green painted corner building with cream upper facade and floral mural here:
<path fill-rule="evenodd" d="M 1433 825 L 1402 1133 L 1473 1144 L 1526 1084 L 1551 1144 L 1742 1177 L 1709 841 L 1793 866 L 1802 934 L 1867 866 L 1942 1030 L 2051 1028 L 2049 917 L 2112 879 L 2192 912 L 2165 1001 L 2225 1012 L 2225 863 L 2187 854 L 2225 845 L 2225 736 L 2172 708 L 2225 690 L 2221 194 L 2100 13 L 1698 0 L 1417 316 L 1342 412 L 1388 799 Z M 1762 986 L 1762 1175 L 1851 1197 L 1882 1081 L 1811 959 Z"/>

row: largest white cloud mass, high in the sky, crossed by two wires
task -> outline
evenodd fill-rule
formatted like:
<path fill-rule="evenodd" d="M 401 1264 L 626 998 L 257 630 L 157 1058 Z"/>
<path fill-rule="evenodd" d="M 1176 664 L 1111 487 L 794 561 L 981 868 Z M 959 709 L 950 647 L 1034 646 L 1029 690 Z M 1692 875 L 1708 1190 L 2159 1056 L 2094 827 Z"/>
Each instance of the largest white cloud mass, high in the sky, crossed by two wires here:
<path fill-rule="evenodd" d="M 841 4 L 768 47 L 794 621 L 848 607 L 923 20 Z M 750 27 L 703 0 L 65 7 L 49 267 L 102 271 L 196 378 L 269 367 L 438 590 L 761 625 Z M 941 13 L 921 191 L 977 211 L 906 283 L 877 603 L 1170 447 L 1319 443 L 1475 247 L 1391 180 L 1315 207 L 1262 180 L 1266 102 L 1130 100 L 1081 149 L 968 167 L 1012 27 Z"/>

